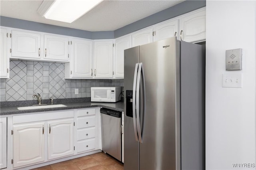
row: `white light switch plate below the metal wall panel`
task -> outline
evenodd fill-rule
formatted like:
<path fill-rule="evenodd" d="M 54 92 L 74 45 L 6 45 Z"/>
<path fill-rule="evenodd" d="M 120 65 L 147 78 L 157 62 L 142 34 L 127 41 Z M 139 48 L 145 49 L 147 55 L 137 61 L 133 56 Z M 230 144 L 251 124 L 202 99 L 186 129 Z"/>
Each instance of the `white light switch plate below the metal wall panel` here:
<path fill-rule="evenodd" d="M 222 87 L 242 88 L 242 73 L 222 74 Z"/>

